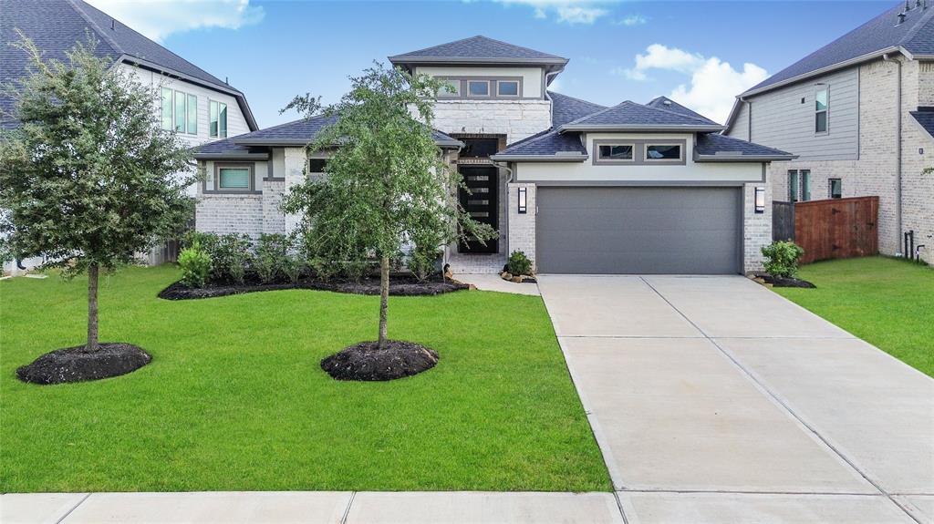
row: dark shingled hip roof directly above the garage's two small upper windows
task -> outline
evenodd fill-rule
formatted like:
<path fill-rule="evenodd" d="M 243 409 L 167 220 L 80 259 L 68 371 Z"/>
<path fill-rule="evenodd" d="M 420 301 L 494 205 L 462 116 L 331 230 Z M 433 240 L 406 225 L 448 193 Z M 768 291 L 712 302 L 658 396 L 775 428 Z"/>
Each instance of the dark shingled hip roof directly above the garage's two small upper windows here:
<path fill-rule="evenodd" d="M 700 115 L 691 117 L 668 109 L 627 100 L 559 126 L 565 131 L 721 131 L 723 126 Z"/>

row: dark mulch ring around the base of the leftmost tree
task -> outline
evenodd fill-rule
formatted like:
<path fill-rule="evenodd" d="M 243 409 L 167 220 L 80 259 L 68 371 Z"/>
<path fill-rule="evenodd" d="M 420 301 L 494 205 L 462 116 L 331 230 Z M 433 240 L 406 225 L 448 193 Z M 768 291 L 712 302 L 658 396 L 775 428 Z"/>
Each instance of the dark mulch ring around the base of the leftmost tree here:
<path fill-rule="evenodd" d="M 60 384 L 126 375 L 149 364 L 152 356 L 132 344 L 102 342 L 89 352 L 84 346 L 48 352 L 16 370 L 24 382 Z"/>

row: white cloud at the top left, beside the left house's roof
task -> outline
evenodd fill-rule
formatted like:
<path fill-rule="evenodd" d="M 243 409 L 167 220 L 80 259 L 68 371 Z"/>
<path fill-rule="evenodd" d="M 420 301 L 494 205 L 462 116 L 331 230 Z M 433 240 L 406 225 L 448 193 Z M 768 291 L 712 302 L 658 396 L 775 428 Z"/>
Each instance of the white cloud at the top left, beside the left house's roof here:
<path fill-rule="evenodd" d="M 220 27 L 239 29 L 262 21 L 249 0 L 88 0 L 92 6 L 157 42 L 169 34 Z"/>

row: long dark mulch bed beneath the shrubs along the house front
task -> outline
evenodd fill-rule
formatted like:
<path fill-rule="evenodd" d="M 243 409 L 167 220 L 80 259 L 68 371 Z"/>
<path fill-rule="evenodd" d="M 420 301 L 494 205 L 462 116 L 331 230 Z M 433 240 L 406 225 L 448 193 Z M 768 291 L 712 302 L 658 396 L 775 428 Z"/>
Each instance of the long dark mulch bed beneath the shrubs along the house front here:
<path fill-rule="evenodd" d="M 391 296 L 441 295 L 442 293 L 451 293 L 469 288 L 470 285 L 465 283 L 453 283 L 440 279 L 419 283 L 415 278 L 406 275 L 394 276 L 389 279 L 389 295 Z M 361 279 L 360 282 L 321 282 L 304 279 L 298 283 L 209 283 L 205 287 L 199 288 L 186 287 L 184 284 L 177 282 L 159 292 L 159 297 L 166 300 L 188 300 L 191 298 L 241 295 L 280 289 L 318 289 L 355 295 L 379 295 L 379 279 L 365 278 Z"/>

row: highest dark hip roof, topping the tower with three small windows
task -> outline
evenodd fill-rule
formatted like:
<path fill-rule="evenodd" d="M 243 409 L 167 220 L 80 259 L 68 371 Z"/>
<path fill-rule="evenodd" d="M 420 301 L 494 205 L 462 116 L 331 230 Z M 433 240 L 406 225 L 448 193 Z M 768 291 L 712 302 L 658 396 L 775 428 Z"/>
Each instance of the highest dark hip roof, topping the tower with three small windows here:
<path fill-rule="evenodd" d="M 568 59 L 477 35 L 432 48 L 389 57 L 395 65 L 413 63 L 516 63 L 563 67 Z"/>

